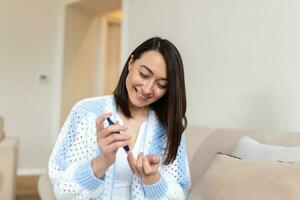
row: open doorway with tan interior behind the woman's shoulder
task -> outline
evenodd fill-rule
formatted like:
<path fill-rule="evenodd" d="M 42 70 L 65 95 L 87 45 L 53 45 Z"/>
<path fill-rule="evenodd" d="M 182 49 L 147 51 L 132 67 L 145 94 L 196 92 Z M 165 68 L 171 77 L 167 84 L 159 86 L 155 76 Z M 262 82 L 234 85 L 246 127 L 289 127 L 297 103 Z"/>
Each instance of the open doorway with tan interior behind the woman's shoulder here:
<path fill-rule="evenodd" d="M 81 99 L 111 94 L 120 74 L 121 0 L 65 6 L 60 126 Z"/>

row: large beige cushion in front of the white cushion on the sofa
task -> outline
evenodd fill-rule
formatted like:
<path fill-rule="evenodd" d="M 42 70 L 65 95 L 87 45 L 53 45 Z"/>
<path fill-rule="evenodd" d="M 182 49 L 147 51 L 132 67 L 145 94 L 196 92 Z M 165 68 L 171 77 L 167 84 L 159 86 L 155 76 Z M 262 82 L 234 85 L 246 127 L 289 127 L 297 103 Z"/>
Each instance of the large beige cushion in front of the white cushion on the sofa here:
<path fill-rule="evenodd" d="M 299 200 L 300 164 L 217 155 L 190 200 Z"/>

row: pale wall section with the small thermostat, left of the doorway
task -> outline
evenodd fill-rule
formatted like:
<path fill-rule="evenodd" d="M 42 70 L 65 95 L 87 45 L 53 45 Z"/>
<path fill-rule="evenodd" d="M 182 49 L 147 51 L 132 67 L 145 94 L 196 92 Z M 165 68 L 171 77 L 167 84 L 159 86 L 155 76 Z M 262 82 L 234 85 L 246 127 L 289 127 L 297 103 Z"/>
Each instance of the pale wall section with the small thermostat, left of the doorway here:
<path fill-rule="evenodd" d="M 20 139 L 21 174 L 47 166 L 58 12 L 58 0 L 0 1 L 0 115 L 7 135 Z M 40 82 L 40 74 L 48 80 Z"/>

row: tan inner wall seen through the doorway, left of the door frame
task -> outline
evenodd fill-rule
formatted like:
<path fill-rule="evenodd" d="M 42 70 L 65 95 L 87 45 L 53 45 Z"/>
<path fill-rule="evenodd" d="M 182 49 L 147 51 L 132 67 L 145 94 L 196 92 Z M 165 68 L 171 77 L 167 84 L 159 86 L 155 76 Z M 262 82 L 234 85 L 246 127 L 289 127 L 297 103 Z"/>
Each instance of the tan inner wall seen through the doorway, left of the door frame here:
<path fill-rule="evenodd" d="M 97 19 L 78 8 L 66 9 L 61 125 L 73 105 L 93 96 Z"/>

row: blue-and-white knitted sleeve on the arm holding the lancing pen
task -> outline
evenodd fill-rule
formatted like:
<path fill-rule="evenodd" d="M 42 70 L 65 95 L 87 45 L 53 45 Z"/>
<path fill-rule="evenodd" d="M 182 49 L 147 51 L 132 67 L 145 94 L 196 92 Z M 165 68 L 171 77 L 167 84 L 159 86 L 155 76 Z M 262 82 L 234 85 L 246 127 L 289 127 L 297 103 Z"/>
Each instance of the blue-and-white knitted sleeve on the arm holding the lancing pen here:
<path fill-rule="evenodd" d="M 94 176 L 90 136 L 95 126 L 87 120 L 87 108 L 77 103 L 64 123 L 49 159 L 49 177 L 57 199 L 90 199 L 103 192 L 103 179 Z"/>

